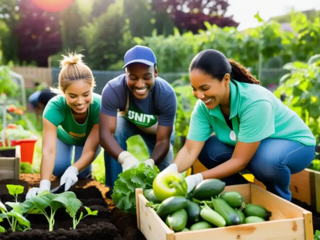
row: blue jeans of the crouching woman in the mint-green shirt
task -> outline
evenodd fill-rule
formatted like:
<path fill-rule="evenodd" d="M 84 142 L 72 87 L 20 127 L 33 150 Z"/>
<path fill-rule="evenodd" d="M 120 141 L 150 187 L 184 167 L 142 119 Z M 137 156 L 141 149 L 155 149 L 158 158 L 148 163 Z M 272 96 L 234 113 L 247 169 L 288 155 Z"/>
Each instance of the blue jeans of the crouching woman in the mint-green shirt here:
<path fill-rule="evenodd" d="M 198 159 L 207 169 L 211 169 L 228 161 L 233 151 L 233 146 L 222 143 L 216 136 L 211 136 L 205 142 Z M 289 190 L 291 174 L 307 168 L 314 158 L 315 146 L 267 138 L 261 140 L 246 170 L 262 182 L 269 192 L 291 201 Z M 248 183 L 239 173 L 221 180 L 226 182 L 226 185 Z"/>

